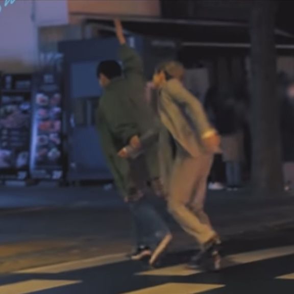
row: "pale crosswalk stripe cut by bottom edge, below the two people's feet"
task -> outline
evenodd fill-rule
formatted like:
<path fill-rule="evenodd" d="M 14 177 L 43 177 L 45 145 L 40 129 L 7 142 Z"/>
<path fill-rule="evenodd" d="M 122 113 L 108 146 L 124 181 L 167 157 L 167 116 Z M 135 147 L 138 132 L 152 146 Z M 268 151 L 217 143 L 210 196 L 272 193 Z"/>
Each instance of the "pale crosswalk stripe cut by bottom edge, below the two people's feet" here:
<path fill-rule="evenodd" d="M 223 287 L 225 287 L 225 285 L 167 283 L 164 285 L 145 288 L 143 290 L 138 291 L 127 292 L 124 294 L 197 294 Z"/>

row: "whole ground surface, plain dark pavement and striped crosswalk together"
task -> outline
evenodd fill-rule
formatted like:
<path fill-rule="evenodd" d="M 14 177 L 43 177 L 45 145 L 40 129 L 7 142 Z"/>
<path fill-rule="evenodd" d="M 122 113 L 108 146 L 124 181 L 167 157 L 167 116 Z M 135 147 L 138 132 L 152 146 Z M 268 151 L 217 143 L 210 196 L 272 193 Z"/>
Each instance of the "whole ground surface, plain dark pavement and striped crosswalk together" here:
<path fill-rule="evenodd" d="M 2 205 L 7 208 L 0 214 L 0 293 L 233 294 L 254 293 L 256 289 L 266 293 L 294 290 L 291 196 L 264 201 L 249 198 L 246 192 L 210 192 L 207 209 L 224 238 L 223 268 L 217 273 L 201 273 L 186 267 L 193 254 L 193 240 L 172 219 L 174 240 L 161 265 L 151 269 L 143 262 L 130 261 L 130 217 L 115 190 L 27 190 L 26 202 L 22 202 L 21 188 L 2 189 L 7 195 Z M 23 207 L 14 207 L 15 203 Z"/>

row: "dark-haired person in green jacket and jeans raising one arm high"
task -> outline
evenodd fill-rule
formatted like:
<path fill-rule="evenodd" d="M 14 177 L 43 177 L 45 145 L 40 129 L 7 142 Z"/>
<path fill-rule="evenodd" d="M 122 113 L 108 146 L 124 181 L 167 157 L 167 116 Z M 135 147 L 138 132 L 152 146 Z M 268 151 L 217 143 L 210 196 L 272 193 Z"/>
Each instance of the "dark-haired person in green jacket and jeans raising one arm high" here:
<path fill-rule="evenodd" d="M 171 240 L 165 222 L 145 197 L 146 183 L 158 182 L 156 143 L 135 159 L 122 158 L 119 151 L 128 144 L 139 148 L 139 137 L 156 129 L 158 122 L 144 101 L 141 58 L 127 45 L 119 20 L 115 20 L 115 28 L 124 70 L 115 60 L 103 61 L 97 67 L 104 92 L 97 108 L 96 126 L 115 184 L 134 216 L 137 251 L 131 258 L 150 257 L 150 264 L 154 264 Z"/>

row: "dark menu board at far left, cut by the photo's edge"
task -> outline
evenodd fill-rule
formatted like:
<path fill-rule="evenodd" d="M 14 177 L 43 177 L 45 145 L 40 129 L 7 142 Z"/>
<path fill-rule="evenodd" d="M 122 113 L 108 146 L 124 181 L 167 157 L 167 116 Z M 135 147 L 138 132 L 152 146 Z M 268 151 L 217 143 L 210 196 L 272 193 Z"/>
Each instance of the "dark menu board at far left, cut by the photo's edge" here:
<path fill-rule="evenodd" d="M 29 174 L 31 75 L 4 75 L 0 98 L 0 178 Z"/>

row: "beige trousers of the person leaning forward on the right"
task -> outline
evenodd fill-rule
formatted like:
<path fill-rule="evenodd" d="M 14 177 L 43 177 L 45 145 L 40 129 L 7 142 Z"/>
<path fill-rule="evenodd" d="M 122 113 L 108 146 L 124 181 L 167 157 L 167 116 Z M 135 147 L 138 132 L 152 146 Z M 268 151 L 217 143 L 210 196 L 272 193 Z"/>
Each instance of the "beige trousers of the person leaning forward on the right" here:
<path fill-rule="evenodd" d="M 192 158 L 179 150 L 169 184 L 168 210 L 179 225 L 200 244 L 209 241 L 215 232 L 204 211 L 207 178 L 213 155 Z"/>

